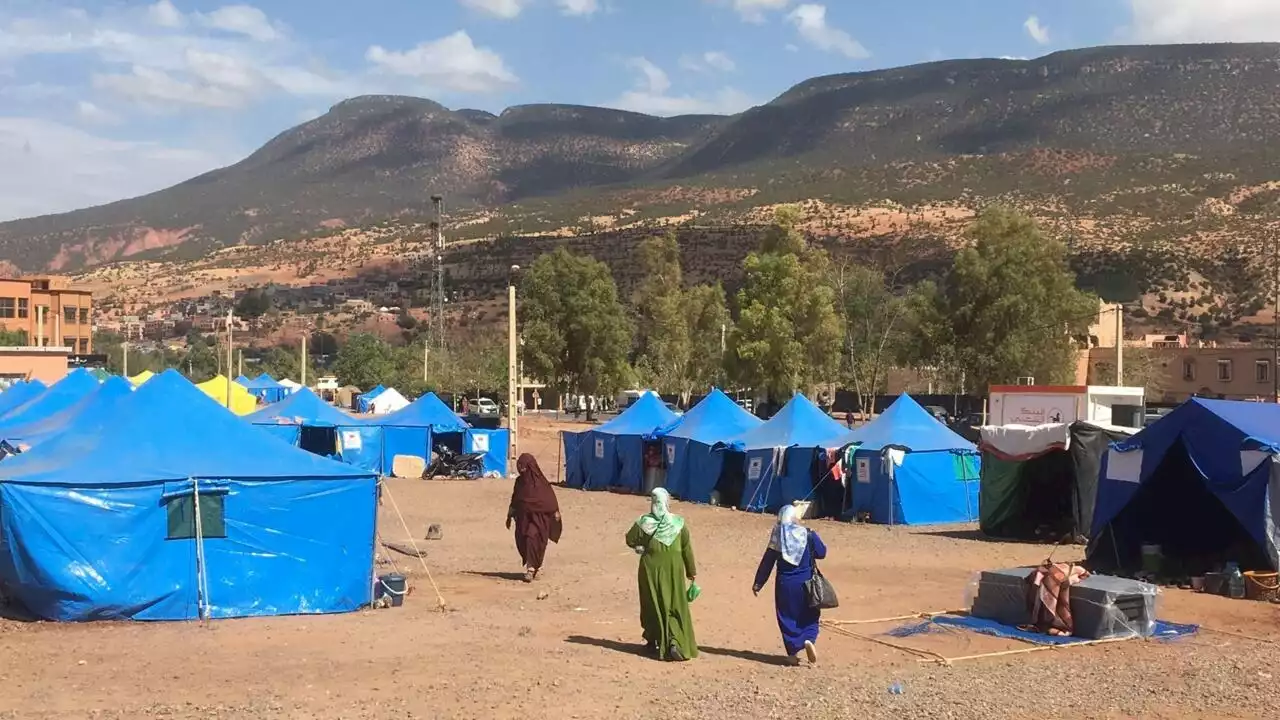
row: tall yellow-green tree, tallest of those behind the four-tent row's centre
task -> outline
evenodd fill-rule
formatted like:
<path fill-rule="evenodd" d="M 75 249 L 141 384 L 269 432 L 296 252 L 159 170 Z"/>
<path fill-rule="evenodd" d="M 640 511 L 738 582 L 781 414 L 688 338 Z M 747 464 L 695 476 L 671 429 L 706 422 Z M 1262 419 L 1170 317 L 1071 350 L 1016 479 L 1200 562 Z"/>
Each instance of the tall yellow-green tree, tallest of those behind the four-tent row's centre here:
<path fill-rule="evenodd" d="M 760 250 L 746 256 L 733 366 L 740 383 L 772 400 L 835 379 L 840 319 L 827 255 L 808 247 L 792 209 L 778 211 Z"/>

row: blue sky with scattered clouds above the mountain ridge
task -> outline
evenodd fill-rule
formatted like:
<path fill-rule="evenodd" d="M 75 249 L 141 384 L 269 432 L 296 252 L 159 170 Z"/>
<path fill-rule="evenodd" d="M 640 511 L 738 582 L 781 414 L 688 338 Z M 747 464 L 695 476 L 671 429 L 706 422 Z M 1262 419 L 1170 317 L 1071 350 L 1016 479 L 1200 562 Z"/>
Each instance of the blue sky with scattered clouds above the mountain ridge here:
<path fill-rule="evenodd" d="M 735 113 L 809 77 L 1280 40 L 1280 0 L 0 0 L 0 219 L 159 190 L 353 95 Z"/>

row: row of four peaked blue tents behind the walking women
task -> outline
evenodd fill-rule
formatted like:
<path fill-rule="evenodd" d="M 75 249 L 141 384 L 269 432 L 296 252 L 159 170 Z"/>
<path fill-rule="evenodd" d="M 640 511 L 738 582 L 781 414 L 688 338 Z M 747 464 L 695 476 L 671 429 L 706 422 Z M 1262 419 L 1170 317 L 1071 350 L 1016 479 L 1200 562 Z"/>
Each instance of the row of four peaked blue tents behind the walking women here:
<path fill-rule="evenodd" d="M 776 511 L 823 496 L 829 503 L 823 488 L 838 486 L 840 507 L 828 514 L 884 524 L 978 518 L 977 447 L 906 395 L 849 429 L 803 395 L 762 420 L 718 389 L 685 415 L 646 393 L 608 423 L 564 433 L 566 484 L 643 492 L 654 448 L 666 469 L 662 484 L 692 502 L 718 497 L 742 510 Z"/>

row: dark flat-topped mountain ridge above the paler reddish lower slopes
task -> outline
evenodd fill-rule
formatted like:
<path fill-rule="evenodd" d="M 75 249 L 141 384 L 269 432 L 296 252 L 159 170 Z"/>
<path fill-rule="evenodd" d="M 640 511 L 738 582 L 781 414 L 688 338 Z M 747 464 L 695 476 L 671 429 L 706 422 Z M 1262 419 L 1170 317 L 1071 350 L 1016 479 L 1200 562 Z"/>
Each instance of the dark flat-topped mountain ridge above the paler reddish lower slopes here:
<path fill-rule="evenodd" d="M 1254 44 L 837 74 L 735 117 L 570 105 L 494 115 L 365 96 L 168 190 L 3 223 L 0 260 L 33 270 L 197 256 L 323 227 L 421 218 L 433 193 L 451 209 L 562 202 L 570 215 L 590 215 L 612 211 L 620 188 L 737 188 L 736 208 L 832 193 L 856 202 L 1028 192 L 1079 206 L 1135 184 L 1192 183 L 1111 208 L 1181 213 L 1183 196 L 1199 202 L 1270 179 L 1277 86 L 1280 45 Z"/>

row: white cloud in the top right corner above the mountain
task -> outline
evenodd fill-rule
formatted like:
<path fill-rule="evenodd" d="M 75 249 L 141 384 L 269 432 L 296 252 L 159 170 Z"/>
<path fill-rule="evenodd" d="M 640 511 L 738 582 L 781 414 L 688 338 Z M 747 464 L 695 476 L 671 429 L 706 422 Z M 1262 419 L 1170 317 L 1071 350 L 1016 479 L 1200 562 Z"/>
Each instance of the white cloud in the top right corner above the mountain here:
<path fill-rule="evenodd" d="M 1280 41 L 1276 0 L 1125 0 L 1137 42 Z"/>

